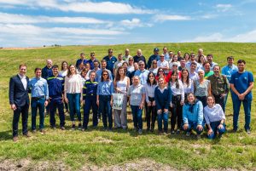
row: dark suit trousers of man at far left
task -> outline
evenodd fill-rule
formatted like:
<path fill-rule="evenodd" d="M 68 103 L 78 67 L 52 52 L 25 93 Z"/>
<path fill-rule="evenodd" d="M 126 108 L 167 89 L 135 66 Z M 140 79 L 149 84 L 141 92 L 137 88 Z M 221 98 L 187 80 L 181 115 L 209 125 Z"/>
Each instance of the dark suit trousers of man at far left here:
<path fill-rule="evenodd" d="M 22 134 L 27 134 L 27 117 L 28 117 L 28 108 L 29 105 L 23 106 L 16 106 L 16 110 L 14 111 L 14 118 L 13 118 L 13 136 L 18 136 L 18 125 L 20 120 L 21 114 L 21 121 L 22 121 Z"/>

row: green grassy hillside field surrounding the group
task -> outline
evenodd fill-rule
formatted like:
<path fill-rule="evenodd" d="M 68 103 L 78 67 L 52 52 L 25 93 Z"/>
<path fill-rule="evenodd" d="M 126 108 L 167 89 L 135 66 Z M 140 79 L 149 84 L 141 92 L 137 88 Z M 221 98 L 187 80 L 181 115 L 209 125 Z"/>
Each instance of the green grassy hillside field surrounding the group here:
<path fill-rule="evenodd" d="M 235 60 L 247 61 L 247 70 L 256 73 L 256 43 L 151 43 L 122 44 L 111 46 L 67 46 L 58 48 L 35 49 L 1 49 L 0 50 L 0 168 L 3 169 L 256 169 L 256 117 L 255 98 L 252 104 L 252 134 L 243 130 L 244 113 L 241 108 L 239 119 L 240 129 L 233 134 L 232 103 L 229 99 L 226 117 L 227 134 L 221 140 L 207 140 L 206 134 L 201 140 L 195 137 L 180 135 L 157 135 L 146 133 L 138 136 L 132 131 L 131 115 L 129 129 L 103 132 L 102 123 L 98 129 L 89 128 L 86 132 L 70 131 L 69 117 L 67 130 L 52 130 L 49 128 L 49 117 L 45 119 L 46 134 L 32 134 L 30 139 L 20 136 L 17 143 L 12 141 L 12 116 L 9 107 L 9 77 L 15 75 L 18 66 L 26 62 L 27 76 L 33 77 L 35 67 L 44 67 L 46 59 L 52 59 L 54 64 L 61 65 L 62 60 L 75 63 L 79 54 L 89 56 L 96 52 L 97 59 L 102 59 L 113 48 L 115 55 L 124 53 L 130 48 L 131 54 L 136 54 L 137 48 L 143 49 L 148 58 L 153 49 L 166 46 L 177 52 L 197 52 L 204 49 L 204 54 L 213 54 L 213 60 L 220 66 L 226 64 L 226 57 L 232 55 Z M 255 97 L 256 88 L 253 88 Z M 58 120 L 57 120 L 58 121 Z M 31 113 L 29 113 L 29 128 Z M 90 122 L 90 125 L 92 123 Z M 144 128 L 145 128 L 145 123 Z M 21 128 L 21 125 L 19 125 Z M 170 125 L 169 125 L 170 128 Z M 156 131 L 155 131 L 156 132 Z M 20 133 L 21 134 L 21 130 Z M 133 165 L 132 165 L 133 164 Z M 37 167 L 37 168 L 36 168 Z"/>

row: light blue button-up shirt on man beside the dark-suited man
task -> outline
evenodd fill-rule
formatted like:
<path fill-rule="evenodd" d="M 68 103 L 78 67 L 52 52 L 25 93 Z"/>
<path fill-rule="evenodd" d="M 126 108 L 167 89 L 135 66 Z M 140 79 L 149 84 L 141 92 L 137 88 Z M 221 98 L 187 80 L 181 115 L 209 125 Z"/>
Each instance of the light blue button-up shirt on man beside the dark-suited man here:
<path fill-rule="evenodd" d="M 45 96 L 45 99 L 49 99 L 49 90 L 47 81 L 43 78 L 33 77 L 29 83 L 28 88 L 31 89 L 31 96 L 32 97 L 41 97 Z"/>

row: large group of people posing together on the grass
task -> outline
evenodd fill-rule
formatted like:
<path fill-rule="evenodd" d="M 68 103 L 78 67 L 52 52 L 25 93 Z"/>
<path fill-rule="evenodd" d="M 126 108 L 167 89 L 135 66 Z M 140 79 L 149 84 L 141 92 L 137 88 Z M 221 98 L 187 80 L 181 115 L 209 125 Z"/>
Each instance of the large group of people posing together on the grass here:
<path fill-rule="evenodd" d="M 102 60 L 96 53 L 90 59 L 80 54 L 76 64 L 46 66 L 34 70 L 35 77 L 26 77 L 26 65 L 20 64 L 19 73 L 9 81 L 9 103 L 14 111 L 13 140 L 18 140 L 18 123 L 22 117 L 22 134 L 29 137 L 27 117 L 29 93 L 31 93 L 32 133 L 37 132 L 37 113 L 39 113 L 39 132 L 45 134 L 44 117 L 49 113 L 50 127 L 56 128 L 55 114 L 58 110 L 60 128 L 65 129 L 65 112 L 69 112 L 71 129 L 86 130 L 89 125 L 90 109 L 92 126 L 96 128 L 102 120 L 103 128 L 128 128 L 127 106 L 131 105 L 133 128 L 143 134 L 143 112 L 146 130 L 154 132 L 155 122 L 158 133 L 168 133 L 171 115 L 171 134 L 181 131 L 189 136 L 192 130 L 196 137 L 206 129 L 207 137 L 221 137 L 226 130 L 225 106 L 230 92 L 233 102 L 233 130 L 238 129 L 241 103 L 245 112 L 244 128 L 250 134 L 253 74 L 245 70 L 246 61 L 227 57 L 227 65 L 222 69 L 213 62 L 212 54 L 198 54 L 181 51 L 174 54 L 163 48 L 154 48 L 148 58 L 137 49 L 137 55 L 113 56 L 113 49 Z M 119 108 L 115 96 L 121 97 Z M 81 106 L 83 106 L 81 112 Z M 83 119 L 83 120 L 82 120 Z M 114 124 L 113 124 L 114 123 Z M 163 127 L 162 127 L 163 125 Z"/>

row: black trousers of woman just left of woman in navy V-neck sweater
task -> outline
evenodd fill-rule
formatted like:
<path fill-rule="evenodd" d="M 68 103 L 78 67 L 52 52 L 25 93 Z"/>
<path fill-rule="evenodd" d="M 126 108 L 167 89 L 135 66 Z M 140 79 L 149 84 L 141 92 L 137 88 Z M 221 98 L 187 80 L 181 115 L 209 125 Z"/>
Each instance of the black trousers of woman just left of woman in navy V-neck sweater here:
<path fill-rule="evenodd" d="M 154 101 L 154 98 L 148 97 L 148 100 L 152 103 Z M 151 116 L 151 117 L 150 117 Z M 146 119 L 147 119 L 147 129 L 154 129 L 154 123 L 156 120 L 156 107 L 154 106 L 148 106 L 147 105 L 147 114 L 146 114 Z M 151 120 L 151 125 L 150 125 L 150 120 Z"/>

